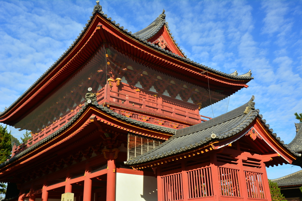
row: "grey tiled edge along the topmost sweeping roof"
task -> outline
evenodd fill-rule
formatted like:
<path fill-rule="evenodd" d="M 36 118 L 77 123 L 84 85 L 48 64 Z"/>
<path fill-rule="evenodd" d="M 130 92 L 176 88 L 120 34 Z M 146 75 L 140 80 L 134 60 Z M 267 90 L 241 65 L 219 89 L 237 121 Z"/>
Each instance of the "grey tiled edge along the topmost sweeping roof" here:
<path fill-rule="evenodd" d="M 80 41 L 80 39 L 84 36 L 84 34 L 86 33 L 86 31 L 88 30 L 88 27 L 90 26 L 90 24 L 92 23 L 93 19 L 95 18 L 96 14 L 99 14 L 101 17 L 103 17 L 105 20 L 107 20 L 108 22 L 110 22 L 112 25 L 114 25 L 116 28 L 118 28 L 120 31 L 122 31 L 123 33 L 127 34 L 128 36 L 132 37 L 133 39 L 137 40 L 140 43 L 143 43 L 153 49 L 155 49 L 156 51 L 162 52 L 165 55 L 168 55 L 169 57 L 173 57 L 176 58 L 178 60 L 184 61 L 188 64 L 191 64 L 197 68 L 200 68 L 202 70 L 204 70 L 204 72 L 211 72 L 216 74 L 217 76 L 222 76 L 222 77 L 226 77 L 229 79 L 233 79 L 233 80 L 246 80 L 247 82 L 249 82 L 250 80 L 254 79 L 254 77 L 251 77 L 251 72 L 249 71 L 246 74 L 243 75 L 236 75 L 234 73 L 232 74 L 226 74 L 223 73 L 221 71 L 217 71 L 215 69 L 209 68 L 207 66 L 204 66 L 202 64 L 199 64 L 197 62 L 194 62 L 192 60 L 190 60 L 189 58 L 185 58 L 179 55 L 175 55 L 175 53 L 169 52 L 168 50 L 162 49 L 161 47 L 156 47 L 155 44 L 151 44 L 151 42 L 147 42 L 147 40 L 143 40 L 140 39 L 139 36 L 135 36 L 131 31 L 128 32 L 127 29 L 124 29 L 123 26 L 120 26 L 119 23 L 116 24 L 116 21 L 112 21 L 111 17 L 108 17 L 107 14 L 104 14 L 104 11 L 102 11 L 102 6 L 101 5 L 95 5 L 93 12 L 92 12 L 92 16 L 90 16 L 90 20 L 88 20 L 88 23 L 85 24 L 85 27 L 83 28 L 83 30 L 81 31 L 81 33 L 79 34 L 79 36 L 75 39 L 74 42 L 72 42 L 71 46 L 69 46 L 69 48 L 55 61 L 54 64 L 51 65 L 50 68 L 47 69 L 47 71 L 45 71 L 16 101 L 14 101 L 8 108 L 6 108 L 4 111 L 0 112 L 0 117 L 2 117 L 3 115 L 5 115 L 8 111 L 10 111 L 18 102 L 20 102 L 29 92 L 31 92 L 31 90 L 33 90 L 35 88 L 35 86 L 37 86 L 54 68 L 56 68 L 56 66 L 58 64 L 60 64 L 61 61 L 63 61 L 63 59 L 73 50 L 73 48 L 78 44 L 78 42 Z M 246 76 L 247 75 L 247 76 Z"/>

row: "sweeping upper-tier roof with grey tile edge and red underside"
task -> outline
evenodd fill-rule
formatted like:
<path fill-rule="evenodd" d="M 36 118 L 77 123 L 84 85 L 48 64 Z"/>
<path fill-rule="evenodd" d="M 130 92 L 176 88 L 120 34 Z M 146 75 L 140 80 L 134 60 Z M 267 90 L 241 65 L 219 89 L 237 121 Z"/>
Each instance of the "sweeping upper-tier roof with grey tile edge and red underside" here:
<path fill-rule="evenodd" d="M 163 15 L 165 14 L 161 14 L 160 16 Z M 246 83 L 253 79 L 250 71 L 240 76 L 238 76 L 236 71 L 231 74 L 226 74 L 148 42 L 146 38 L 158 33 L 160 26 L 163 27 L 162 20 L 159 21 L 160 23 L 157 26 L 154 26 L 156 28 L 152 29 L 152 32 L 149 33 L 145 28 L 137 32 L 139 33 L 137 36 L 136 33 L 132 34 L 131 31 L 128 32 L 123 26 L 112 21 L 111 17 L 104 14 L 101 5 L 95 5 L 90 19 L 77 39 L 60 58 L 13 104 L 3 112 L 0 112 L 0 122 L 5 124 L 18 122 L 20 117 L 39 104 L 48 93 L 59 86 L 68 76 L 72 75 L 77 68 L 80 68 L 85 61 L 81 64 L 79 62 L 82 62 L 81 60 L 84 58 L 89 59 L 98 48 L 97 42 L 103 42 L 104 40 L 112 42 L 112 44 L 120 48 L 120 51 L 130 51 L 130 54 L 136 58 L 139 58 L 140 55 L 147 52 L 148 56 L 144 57 L 149 59 L 147 60 L 148 62 L 155 62 L 157 65 L 169 68 L 169 70 L 173 69 L 179 76 L 185 75 L 193 78 L 191 79 L 192 81 L 201 80 L 207 84 L 209 82 L 211 87 L 219 86 L 225 89 L 225 91 L 221 93 L 225 93 L 227 96 L 243 87 L 247 87 Z M 159 20 L 159 18 L 157 18 L 157 20 Z M 98 29 L 101 29 L 101 32 L 95 34 Z M 141 39 L 140 35 L 143 36 L 144 39 Z M 83 48 L 84 46 L 85 48 Z M 75 59 L 77 61 L 75 61 Z"/>

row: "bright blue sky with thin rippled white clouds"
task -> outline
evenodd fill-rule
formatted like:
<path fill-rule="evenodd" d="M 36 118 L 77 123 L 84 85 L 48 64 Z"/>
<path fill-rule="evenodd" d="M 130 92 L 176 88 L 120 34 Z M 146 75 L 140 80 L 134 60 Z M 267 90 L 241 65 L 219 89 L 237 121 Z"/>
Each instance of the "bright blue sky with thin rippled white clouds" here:
<path fill-rule="evenodd" d="M 95 1 L 0 1 L 0 111 L 13 103 L 79 35 Z M 132 33 L 165 8 L 169 29 L 191 60 L 254 80 L 202 115 L 218 116 L 255 96 L 274 132 L 291 142 L 302 112 L 302 1 L 100 1 Z M 20 138 L 22 132 L 10 127 Z M 300 167 L 268 168 L 278 178 Z"/>

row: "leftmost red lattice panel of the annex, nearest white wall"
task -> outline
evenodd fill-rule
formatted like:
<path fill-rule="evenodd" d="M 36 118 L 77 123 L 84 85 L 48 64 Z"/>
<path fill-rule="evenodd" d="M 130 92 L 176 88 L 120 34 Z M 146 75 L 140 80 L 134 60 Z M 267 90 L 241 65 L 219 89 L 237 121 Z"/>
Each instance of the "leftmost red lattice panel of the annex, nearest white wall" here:
<path fill-rule="evenodd" d="M 183 199 L 182 174 L 162 177 L 163 201 Z"/>

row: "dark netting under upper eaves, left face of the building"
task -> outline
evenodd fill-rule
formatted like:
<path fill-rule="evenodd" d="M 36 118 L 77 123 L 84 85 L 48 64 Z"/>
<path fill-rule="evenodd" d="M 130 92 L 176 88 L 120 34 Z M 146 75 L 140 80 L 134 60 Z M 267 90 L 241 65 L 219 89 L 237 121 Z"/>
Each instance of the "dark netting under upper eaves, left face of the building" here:
<path fill-rule="evenodd" d="M 106 84 L 106 74 L 99 71 L 106 66 L 104 52 L 104 47 L 100 47 L 90 61 L 46 96 L 14 127 L 37 132 L 84 102 L 88 87 L 94 91 L 101 90 Z"/>

